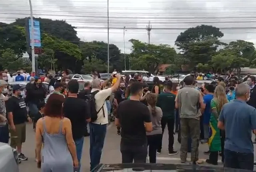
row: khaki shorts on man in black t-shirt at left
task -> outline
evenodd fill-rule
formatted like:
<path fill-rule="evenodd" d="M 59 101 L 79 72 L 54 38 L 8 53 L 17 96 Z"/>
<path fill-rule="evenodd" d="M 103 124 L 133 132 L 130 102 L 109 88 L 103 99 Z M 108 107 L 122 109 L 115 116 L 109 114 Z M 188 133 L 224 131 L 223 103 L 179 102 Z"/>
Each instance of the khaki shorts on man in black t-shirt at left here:
<path fill-rule="evenodd" d="M 10 130 L 11 134 L 11 143 L 12 148 L 20 146 L 26 140 L 26 123 L 15 125 L 15 131 Z"/>

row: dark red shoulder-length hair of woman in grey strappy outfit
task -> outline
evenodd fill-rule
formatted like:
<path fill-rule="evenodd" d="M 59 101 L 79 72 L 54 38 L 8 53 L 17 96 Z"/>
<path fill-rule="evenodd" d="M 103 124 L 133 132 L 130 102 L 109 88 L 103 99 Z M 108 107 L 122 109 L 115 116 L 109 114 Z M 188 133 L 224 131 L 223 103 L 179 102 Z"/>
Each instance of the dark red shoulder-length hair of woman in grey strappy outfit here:
<path fill-rule="evenodd" d="M 50 117 L 62 117 L 63 116 L 63 107 L 65 98 L 62 94 L 53 93 L 49 96 L 44 110 L 45 116 Z"/>

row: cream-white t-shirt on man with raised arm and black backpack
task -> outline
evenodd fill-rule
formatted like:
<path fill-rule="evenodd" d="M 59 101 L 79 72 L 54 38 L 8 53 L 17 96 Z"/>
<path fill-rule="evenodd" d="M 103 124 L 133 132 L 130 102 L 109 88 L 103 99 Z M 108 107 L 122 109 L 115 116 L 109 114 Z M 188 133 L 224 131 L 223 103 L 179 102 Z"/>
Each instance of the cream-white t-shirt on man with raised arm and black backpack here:
<path fill-rule="evenodd" d="M 92 88 L 91 92 L 94 92 L 96 90 L 98 89 Z M 95 94 L 94 98 L 96 102 L 96 111 L 100 110 L 102 105 L 103 105 L 103 108 L 98 113 L 98 119 L 92 123 L 100 124 L 100 125 L 108 124 L 108 108 L 105 101 L 106 101 L 106 98 L 108 98 L 108 96 L 110 96 L 111 94 L 112 94 L 111 88 L 100 90 L 97 94 Z M 103 109 L 104 109 L 105 117 L 103 114 Z"/>

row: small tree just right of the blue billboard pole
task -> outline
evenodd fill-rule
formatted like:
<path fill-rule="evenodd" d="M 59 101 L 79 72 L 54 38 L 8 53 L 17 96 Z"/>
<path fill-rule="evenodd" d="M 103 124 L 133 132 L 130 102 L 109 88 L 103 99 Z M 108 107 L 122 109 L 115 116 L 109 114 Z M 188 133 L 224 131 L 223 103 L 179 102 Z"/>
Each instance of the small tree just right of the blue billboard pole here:
<path fill-rule="evenodd" d="M 45 67 L 46 69 L 55 70 L 55 64 L 58 59 L 54 58 L 54 50 L 44 48 L 44 52 L 39 56 L 39 66 Z"/>

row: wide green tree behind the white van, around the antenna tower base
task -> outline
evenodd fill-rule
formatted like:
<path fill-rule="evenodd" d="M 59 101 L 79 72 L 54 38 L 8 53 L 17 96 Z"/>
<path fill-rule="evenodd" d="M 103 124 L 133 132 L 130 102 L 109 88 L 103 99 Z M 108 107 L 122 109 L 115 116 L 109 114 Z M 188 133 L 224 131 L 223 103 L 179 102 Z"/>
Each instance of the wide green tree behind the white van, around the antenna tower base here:
<path fill-rule="evenodd" d="M 155 72 L 159 64 L 168 64 L 174 61 L 176 51 L 169 45 L 154 45 L 140 42 L 139 40 L 129 40 L 132 43 L 131 67 L 132 69 L 145 69 Z"/>

